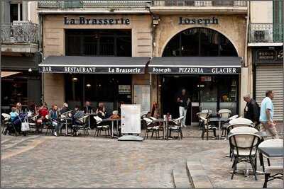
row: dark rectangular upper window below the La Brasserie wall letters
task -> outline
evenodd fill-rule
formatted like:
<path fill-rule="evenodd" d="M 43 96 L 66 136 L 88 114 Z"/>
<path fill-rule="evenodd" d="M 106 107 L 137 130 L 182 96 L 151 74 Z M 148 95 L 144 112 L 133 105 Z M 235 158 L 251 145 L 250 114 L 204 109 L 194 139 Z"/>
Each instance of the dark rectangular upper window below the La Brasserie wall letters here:
<path fill-rule="evenodd" d="M 131 30 L 66 30 L 66 55 L 131 57 Z"/>

